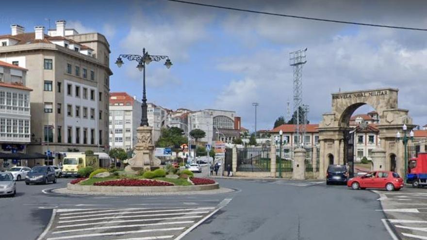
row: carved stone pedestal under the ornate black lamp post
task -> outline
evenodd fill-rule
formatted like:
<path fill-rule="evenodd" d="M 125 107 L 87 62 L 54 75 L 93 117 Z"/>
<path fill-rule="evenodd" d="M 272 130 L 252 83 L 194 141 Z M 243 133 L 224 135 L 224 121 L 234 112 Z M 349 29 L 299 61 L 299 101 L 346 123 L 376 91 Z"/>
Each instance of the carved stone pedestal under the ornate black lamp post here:
<path fill-rule="evenodd" d="M 153 128 L 142 126 L 136 128 L 135 156 L 128 160 L 125 172 L 136 174 L 140 170 L 148 171 L 160 165 L 160 160 L 154 157 L 154 144 L 152 141 Z"/>

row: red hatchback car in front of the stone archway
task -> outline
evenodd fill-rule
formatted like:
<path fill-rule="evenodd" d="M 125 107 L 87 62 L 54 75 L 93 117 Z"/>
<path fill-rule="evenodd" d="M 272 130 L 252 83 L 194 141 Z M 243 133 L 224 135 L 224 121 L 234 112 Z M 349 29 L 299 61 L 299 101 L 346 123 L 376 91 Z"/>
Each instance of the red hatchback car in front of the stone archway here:
<path fill-rule="evenodd" d="M 392 171 L 374 171 L 348 179 L 347 186 L 353 190 L 382 188 L 387 191 L 399 191 L 403 188 L 403 179 Z"/>

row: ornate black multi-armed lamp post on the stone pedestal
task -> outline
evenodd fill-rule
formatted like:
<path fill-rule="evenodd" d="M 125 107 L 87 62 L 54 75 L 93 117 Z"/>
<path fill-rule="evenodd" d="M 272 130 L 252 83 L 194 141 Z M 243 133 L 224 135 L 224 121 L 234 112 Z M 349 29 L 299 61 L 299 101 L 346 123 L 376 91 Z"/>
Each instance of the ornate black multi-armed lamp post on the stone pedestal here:
<path fill-rule="evenodd" d="M 136 61 L 138 62 L 138 65 L 136 68 L 138 68 L 139 71 L 143 71 L 143 90 L 142 90 L 142 116 L 141 116 L 141 124 L 140 126 L 147 126 L 148 127 L 148 118 L 147 118 L 147 96 L 146 96 L 146 90 L 145 90 L 145 68 L 146 64 L 150 64 L 151 61 L 159 62 L 161 60 L 166 59 L 166 62 L 164 65 L 167 68 L 170 68 L 172 66 L 172 62 L 170 62 L 170 59 L 168 56 L 163 55 L 149 55 L 148 51 L 145 50 L 145 48 L 142 49 L 142 56 L 141 55 L 133 55 L 133 54 L 120 54 L 117 58 L 117 61 L 115 61 L 115 64 L 117 64 L 118 67 L 121 67 L 124 63 L 122 61 L 122 58 L 126 58 L 129 61 Z"/>

